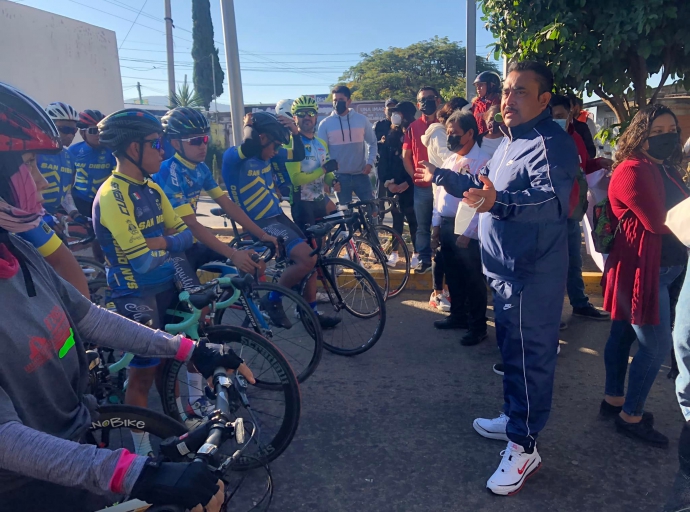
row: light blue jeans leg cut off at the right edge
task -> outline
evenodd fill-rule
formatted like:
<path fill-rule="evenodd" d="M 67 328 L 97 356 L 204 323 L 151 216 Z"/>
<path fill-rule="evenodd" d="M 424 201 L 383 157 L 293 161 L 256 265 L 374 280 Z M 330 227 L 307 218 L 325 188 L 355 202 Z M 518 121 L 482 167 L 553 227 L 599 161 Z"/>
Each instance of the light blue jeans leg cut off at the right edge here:
<path fill-rule="evenodd" d="M 690 272 L 685 274 L 683 288 L 676 304 L 673 348 L 678 363 L 676 396 L 686 421 L 690 421 Z"/>

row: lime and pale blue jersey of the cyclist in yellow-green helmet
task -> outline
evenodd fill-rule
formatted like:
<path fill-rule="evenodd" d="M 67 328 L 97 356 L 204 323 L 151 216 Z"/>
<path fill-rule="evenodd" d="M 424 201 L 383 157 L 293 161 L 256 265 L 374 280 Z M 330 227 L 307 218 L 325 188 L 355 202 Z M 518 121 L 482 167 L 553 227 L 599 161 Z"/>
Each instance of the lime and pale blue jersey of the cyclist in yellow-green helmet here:
<path fill-rule="evenodd" d="M 326 197 L 323 190 L 324 182 L 330 185 L 335 178 L 332 172 L 324 175 L 322 167 L 330 160 L 328 144 L 318 137 L 301 137 L 306 153 L 304 160 L 286 164 L 294 187 L 294 198 L 301 201 L 322 201 Z"/>

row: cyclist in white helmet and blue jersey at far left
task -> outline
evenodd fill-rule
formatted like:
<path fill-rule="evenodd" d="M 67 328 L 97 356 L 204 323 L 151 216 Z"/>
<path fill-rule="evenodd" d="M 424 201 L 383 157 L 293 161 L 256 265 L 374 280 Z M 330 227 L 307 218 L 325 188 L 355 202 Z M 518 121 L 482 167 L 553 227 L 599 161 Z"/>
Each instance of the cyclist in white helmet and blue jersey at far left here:
<path fill-rule="evenodd" d="M 60 132 L 62 150 L 55 155 L 38 155 L 36 160 L 38 170 L 47 181 L 47 187 L 43 193 L 43 207 L 47 215 L 44 220 L 52 228 L 55 228 L 54 215 L 62 210 L 75 222 L 85 224 L 87 218 L 79 213 L 72 199 L 72 183 L 74 182 L 74 163 L 72 155 L 67 148 L 74 141 L 77 133 L 77 121 L 79 113 L 72 105 L 56 102 L 46 107 L 48 117 L 53 120 Z"/>

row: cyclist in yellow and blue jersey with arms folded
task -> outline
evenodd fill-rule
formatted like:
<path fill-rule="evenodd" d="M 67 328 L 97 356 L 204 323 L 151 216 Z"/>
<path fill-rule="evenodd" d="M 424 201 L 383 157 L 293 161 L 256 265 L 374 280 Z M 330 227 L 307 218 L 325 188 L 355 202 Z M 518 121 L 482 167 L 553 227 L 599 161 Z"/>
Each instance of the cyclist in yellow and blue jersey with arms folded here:
<path fill-rule="evenodd" d="M 105 253 L 112 301 L 121 315 L 137 321 L 145 316 L 151 327 L 162 328 L 166 309 L 177 300 L 176 273 L 179 282 L 198 284 L 183 254 L 192 246 L 192 232 L 161 188 L 148 179 L 163 160 L 163 127 L 153 114 L 133 108 L 110 114 L 98 130 L 101 143 L 117 159 L 93 206 L 94 231 Z M 159 359 L 135 357 L 125 403 L 146 407 L 161 370 Z M 141 453 L 150 451 L 145 433 L 133 431 L 132 436 L 135 446 L 142 443 Z"/>

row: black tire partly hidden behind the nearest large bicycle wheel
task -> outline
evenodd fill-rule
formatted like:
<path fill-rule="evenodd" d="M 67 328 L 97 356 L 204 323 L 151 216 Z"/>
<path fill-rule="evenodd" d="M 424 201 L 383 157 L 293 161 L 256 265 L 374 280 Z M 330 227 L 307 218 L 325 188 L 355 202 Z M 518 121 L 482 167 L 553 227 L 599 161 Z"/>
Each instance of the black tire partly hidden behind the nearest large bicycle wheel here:
<path fill-rule="evenodd" d="M 275 330 L 274 336 L 271 338 L 268 338 L 271 343 L 273 343 L 278 349 L 283 353 L 283 355 L 286 357 L 288 362 L 290 363 L 290 366 L 292 366 L 293 370 L 295 371 L 295 374 L 297 375 L 297 380 L 302 383 L 305 380 L 307 380 L 316 370 L 317 366 L 319 366 L 319 363 L 321 362 L 321 356 L 323 354 L 323 332 L 321 330 L 321 325 L 319 324 L 319 318 L 314 312 L 314 310 L 309 306 L 309 303 L 307 303 L 304 298 L 299 295 L 297 292 L 290 290 L 288 288 L 285 288 L 284 286 L 280 286 L 276 283 L 269 283 L 269 282 L 259 282 L 259 283 L 254 283 L 252 284 L 252 294 L 256 293 L 258 296 L 261 291 L 265 291 L 267 293 L 269 292 L 278 292 L 283 294 L 284 296 L 288 297 L 291 301 L 293 301 L 295 304 L 298 305 L 299 307 L 299 315 L 300 315 L 300 323 L 304 327 L 305 332 L 310 336 L 311 340 L 314 342 L 314 347 L 313 349 L 309 346 L 305 346 L 305 342 L 300 342 L 299 340 L 294 340 L 290 341 L 288 339 L 282 338 L 279 339 L 279 334 L 281 332 L 287 332 L 291 333 L 292 329 L 282 329 L 276 327 L 273 325 L 273 329 Z M 227 300 L 232 293 L 227 290 L 223 292 L 223 295 L 219 299 L 220 301 Z M 255 305 L 257 308 L 259 307 L 259 304 L 257 301 L 254 301 Z M 243 327 L 245 329 L 254 329 L 254 326 L 252 323 L 249 321 L 246 313 L 242 309 L 241 306 L 238 305 L 238 310 L 240 311 L 239 316 L 235 317 L 234 315 L 231 315 L 233 311 L 235 311 L 235 308 L 233 306 L 230 306 L 229 308 L 223 309 L 219 311 L 216 316 L 214 317 L 214 324 L 215 325 L 236 325 L 237 327 Z M 232 308 L 232 309 L 231 309 Z M 239 320 L 239 318 L 242 318 L 242 321 L 240 325 L 237 323 L 233 322 L 232 320 L 229 320 L 230 317 L 233 317 L 233 320 Z M 223 318 L 226 319 L 226 324 L 223 324 Z M 270 321 L 270 319 L 267 319 Z M 295 325 L 293 324 L 292 328 L 294 329 Z M 260 329 L 259 326 L 257 326 L 257 329 Z M 262 335 L 261 332 L 258 332 L 255 330 L 255 332 L 259 335 Z M 299 346 L 297 345 L 299 343 Z M 296 353 L 297 351 L 293 348 L 297 346 L 297 348 L 304 348 L 305 350 L 311 350 L 312 355 L 311 358 L 309 359 L 309 362 L 307 365 L 304 365 L 298 361 L 297 357 L 293 356 L 292 354 Z"/>

